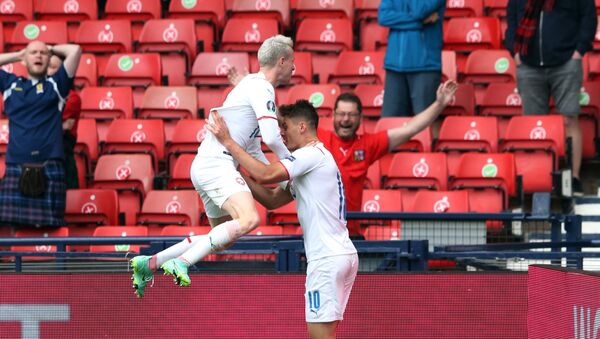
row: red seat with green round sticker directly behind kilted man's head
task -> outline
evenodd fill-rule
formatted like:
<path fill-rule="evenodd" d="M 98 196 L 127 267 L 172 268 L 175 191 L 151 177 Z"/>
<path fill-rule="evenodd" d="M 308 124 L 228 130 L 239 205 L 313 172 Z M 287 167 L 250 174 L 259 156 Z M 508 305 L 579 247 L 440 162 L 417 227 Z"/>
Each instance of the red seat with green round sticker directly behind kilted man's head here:
<path fill-rule="evenodd" d="M 34 40 L 50 45 L 67 43 L 67 24 L 64 21 L 19 21 L 6 40 L 7 51 L 20 51 Z"/>

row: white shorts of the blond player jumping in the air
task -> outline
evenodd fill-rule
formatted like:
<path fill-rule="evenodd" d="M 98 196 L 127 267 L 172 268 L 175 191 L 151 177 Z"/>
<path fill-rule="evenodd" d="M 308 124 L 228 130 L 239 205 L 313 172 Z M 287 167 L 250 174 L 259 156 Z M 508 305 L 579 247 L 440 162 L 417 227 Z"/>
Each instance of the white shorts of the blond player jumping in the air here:
<path fill-rule="evenodd" d="M 221 207 L 230 196 L 250 192 L 246 181 L 235 169 L 233 159 L 197 156 L 192 162 L 190 176 L 204 203 L 206 216 L 212 219 L 228 215 Z"/>

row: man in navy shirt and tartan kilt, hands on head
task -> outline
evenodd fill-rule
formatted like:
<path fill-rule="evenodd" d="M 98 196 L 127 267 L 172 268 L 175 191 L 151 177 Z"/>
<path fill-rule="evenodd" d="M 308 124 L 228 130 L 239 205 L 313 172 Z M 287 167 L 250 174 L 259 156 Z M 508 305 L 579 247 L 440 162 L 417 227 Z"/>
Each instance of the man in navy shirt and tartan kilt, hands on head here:
<path fill-rule="evenodd" d="M 64 64 L 47 76 L 50 56 Z M 33 41 L 19 52 L 0 54 L 0 65 L 24 62 L 27 78 L 0 70 L 0 90 L 10 136 L 6 175 L 0 182 L 0 223 L 62 226 L 65 208 L 61 112 L 79 65 L 77 45 Z"/>

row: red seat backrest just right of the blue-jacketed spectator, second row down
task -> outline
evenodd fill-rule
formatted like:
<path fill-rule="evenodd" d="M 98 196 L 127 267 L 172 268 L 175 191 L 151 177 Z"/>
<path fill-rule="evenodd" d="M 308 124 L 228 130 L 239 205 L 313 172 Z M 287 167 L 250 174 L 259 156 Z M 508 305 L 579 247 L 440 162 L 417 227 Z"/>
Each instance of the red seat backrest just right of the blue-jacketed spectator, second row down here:
<path fill-rule="evenodd" d="M 501 48 L 498 18 L 452 18 L 444 30 L 444 49 L 473 51 Z"/>

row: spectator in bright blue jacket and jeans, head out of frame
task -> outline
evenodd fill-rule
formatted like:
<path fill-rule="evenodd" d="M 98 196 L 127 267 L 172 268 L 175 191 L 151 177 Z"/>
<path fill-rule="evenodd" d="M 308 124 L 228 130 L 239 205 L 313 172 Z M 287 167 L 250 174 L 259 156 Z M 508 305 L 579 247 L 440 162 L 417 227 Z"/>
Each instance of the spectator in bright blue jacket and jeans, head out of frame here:
<path fill-rule="evenodd" d="M 412 116 L 435 101 L 442 77 L 445 0 L 382 0 L 378 21 L 390 29 L 383 117 Z"/>

